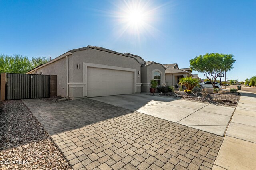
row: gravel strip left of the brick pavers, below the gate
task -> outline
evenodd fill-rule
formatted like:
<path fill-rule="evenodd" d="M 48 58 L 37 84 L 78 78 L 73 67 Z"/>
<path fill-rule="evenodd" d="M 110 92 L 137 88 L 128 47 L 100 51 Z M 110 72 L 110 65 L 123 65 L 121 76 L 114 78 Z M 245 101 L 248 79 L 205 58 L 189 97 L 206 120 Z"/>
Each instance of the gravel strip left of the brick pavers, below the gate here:
<path fill-rule="evenodd" d="M 52 139 L 21 100 L 0 102 L 0 134 L 0 169 L 71 170 Z"/>

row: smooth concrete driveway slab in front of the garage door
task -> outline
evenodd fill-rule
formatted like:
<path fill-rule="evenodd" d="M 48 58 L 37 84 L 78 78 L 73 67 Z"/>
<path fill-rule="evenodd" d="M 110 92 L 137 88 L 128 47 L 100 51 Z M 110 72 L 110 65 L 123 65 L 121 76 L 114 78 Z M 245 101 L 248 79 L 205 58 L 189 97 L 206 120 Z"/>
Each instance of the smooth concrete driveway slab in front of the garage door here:
<path fill-rule="evenodd" d="M 146 93 L 91 99 L 222 136 L 234 112 L 232 107 L 151 96 Z"/>

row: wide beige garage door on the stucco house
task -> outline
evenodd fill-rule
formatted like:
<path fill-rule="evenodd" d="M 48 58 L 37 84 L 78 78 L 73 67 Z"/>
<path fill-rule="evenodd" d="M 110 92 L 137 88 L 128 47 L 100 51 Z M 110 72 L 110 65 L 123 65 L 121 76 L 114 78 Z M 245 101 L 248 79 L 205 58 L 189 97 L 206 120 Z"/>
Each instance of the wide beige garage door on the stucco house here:
<path fill-rule="evenodd" d="M 87 97 L 133 93 L 133 72 L 87 68 Z"/>

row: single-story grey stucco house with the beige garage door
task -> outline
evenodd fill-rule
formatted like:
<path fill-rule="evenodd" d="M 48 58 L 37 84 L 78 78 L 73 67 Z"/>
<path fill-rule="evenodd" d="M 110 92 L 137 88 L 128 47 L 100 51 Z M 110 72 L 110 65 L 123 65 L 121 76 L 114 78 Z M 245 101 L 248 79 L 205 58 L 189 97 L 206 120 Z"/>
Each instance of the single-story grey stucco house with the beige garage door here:
<path fill-rule="evenodd" d="M 70 50 L 27 74 L 57 75 L 57 95 L 76 99 L 148 92 L 142 82 L 150 83 L 157 71 L 160 84 L 165 83 L 162 64 L 153 63 L 147 70 L 144 64 L 146 61 L 137 55 L 87 46 Z"/>

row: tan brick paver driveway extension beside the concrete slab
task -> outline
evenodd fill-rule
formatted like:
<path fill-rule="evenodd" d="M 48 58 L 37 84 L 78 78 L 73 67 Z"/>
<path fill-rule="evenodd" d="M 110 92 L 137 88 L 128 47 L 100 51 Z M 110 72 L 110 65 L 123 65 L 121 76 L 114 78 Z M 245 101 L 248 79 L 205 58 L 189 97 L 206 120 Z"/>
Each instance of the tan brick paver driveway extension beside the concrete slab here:
<path fill-rule="evenodd" d="M 77 169 L 209 169 L 223 137 L 91 99 L 22 100 Z"/>

